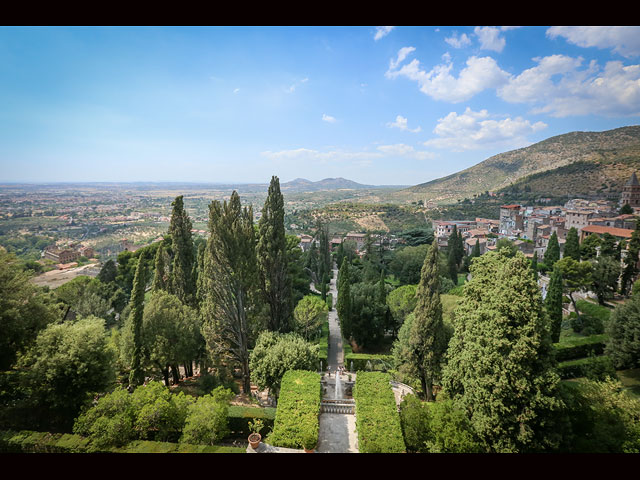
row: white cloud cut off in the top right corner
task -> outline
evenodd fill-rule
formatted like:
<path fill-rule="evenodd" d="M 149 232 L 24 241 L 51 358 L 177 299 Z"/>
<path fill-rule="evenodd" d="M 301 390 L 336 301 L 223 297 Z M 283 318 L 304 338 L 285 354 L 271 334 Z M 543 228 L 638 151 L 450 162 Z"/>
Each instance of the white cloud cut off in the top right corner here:
<path fill-rule="evenodd" d="M 640 27 L 551 27 L 549 38 L 564 37 L 579 47 L 611 48 L 627 57 L 640 56 Z"/>

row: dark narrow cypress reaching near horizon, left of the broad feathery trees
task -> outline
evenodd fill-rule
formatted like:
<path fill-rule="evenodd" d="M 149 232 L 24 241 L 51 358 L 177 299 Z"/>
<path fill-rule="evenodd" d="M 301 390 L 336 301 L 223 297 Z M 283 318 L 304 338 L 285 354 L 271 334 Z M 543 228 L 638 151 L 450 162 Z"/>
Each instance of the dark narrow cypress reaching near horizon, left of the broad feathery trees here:
<path fill-rule="evenodd" d="M 191 236 L 191 220 L 184 209 L 182 195 L 176 197 L 171 204 L 171 250 L 173 261 L 169 275 L 169 293 L 180 299 L 185 305 L 194 305 L 195 285 L 193 282 L 193 239 Z"/>

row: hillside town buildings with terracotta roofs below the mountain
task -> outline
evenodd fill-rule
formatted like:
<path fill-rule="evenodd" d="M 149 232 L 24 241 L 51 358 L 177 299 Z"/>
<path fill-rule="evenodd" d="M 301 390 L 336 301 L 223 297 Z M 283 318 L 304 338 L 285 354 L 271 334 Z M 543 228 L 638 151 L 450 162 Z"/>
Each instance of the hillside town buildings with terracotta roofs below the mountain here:
<path fill-rule="evenodd" d="M 549 239 L 555 233 L 560 250 L 564 248 L 571 228 L 578 231 L 582 242 L 589 235 L 613 235 L 618 241 L 628 241 L 636 228 L 634 214 L 620 215 L 620 206 L 628 204 L 634 213 L 640 212 L 640 182 L 634 173 L 622 192 L 619 204 L 606 200 L 574 199 L 563 206 L 502 205 L 498 219 L 476 218 L 475 221 L 434 222 L 438 245 L 446 249 L 453 227 L 462 233 L 466 253 L 479 243 L 480 252 L 494 250 L 500 238 L 508 238 L 526 256 L 537 252 L 542 258 Z"/>

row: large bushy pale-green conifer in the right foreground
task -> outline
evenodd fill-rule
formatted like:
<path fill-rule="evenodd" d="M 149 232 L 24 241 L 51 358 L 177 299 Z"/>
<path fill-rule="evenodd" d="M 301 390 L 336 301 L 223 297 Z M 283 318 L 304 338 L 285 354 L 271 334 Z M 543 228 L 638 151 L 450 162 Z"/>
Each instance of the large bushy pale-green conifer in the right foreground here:
<path fill-rule="evenodd" d="M 559 409 L 548 318 L 530 262 L 518 252 L 474 260 L 456 310 L 443 390 L 491 452 L 553 447 Z"/>

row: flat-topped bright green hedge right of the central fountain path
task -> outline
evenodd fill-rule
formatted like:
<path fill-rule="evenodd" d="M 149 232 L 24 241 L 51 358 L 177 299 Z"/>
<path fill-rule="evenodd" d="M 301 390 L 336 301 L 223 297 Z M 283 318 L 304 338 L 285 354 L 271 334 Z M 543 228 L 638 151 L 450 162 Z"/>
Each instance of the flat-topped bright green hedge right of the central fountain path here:
<path fill-rule="evenodd" d="M 361 453 L 406 451 L 390 380 L 388 373 L 357 373 L 353 398 L 356 401 L 356 429 Z"/>

